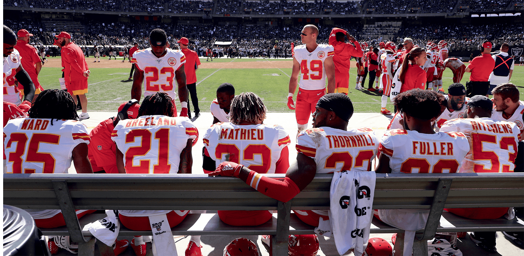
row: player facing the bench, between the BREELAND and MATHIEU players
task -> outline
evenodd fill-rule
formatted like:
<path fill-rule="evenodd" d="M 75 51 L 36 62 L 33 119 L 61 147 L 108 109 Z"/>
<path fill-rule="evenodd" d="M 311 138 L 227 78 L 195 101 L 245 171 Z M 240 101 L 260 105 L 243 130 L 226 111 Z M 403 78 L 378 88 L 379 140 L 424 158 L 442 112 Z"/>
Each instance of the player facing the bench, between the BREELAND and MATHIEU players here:
<path fill-rule="evenodd" d="M 216 89 L 216 99 L 209 106 L 211 114 L 213 114 L 213 124 L 229 122 L 233 98 L 235 98 L 235 87 L 233 87 L 233 84 L 223 83 Z"/>

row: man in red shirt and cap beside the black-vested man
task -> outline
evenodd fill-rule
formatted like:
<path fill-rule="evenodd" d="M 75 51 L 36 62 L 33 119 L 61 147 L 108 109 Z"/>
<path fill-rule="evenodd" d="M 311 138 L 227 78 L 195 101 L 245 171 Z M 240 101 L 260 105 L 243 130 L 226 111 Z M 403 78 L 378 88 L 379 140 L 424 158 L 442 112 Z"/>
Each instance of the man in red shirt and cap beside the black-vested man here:
<path fill-rule="evenodd" d="M 490 41 L 485 41 L 478 46 L 482 52 L 482 56 L 475 57 L 470 65 L 467 66 L 465 72 L 470 72 L 470 81 L 466 82 L 466 97 L 473 97 L 475 95 L 488 94 L 489 90 L 489 74 L 495 68 L 495 60 L 489 54 L 493 48 Z"/>

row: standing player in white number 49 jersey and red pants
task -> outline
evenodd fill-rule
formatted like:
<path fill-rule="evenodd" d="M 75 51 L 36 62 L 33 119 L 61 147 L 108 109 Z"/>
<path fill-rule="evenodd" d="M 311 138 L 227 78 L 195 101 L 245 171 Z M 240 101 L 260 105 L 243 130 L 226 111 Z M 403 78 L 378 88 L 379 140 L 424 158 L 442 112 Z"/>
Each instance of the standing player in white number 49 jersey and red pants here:
<path fill-rule="evenodd" d="M 294 47 L 293 71 L 289 79 L 288 108 L 295 110 L 293 94 L 299 84 L 297 94 L 298 133 L 308 127 L 309 115 L 315 112 L 316 102 L 325 94 L 325 80 L 328 79 L 328 93 L 335 92 L 334 49 L 331 45 L 319 45 L 316 37 L 319 29 L 315 25 L 305 25 L 300 33 L 302 44 Z M 300 76 L 300 82 L 298 77 Z"/>

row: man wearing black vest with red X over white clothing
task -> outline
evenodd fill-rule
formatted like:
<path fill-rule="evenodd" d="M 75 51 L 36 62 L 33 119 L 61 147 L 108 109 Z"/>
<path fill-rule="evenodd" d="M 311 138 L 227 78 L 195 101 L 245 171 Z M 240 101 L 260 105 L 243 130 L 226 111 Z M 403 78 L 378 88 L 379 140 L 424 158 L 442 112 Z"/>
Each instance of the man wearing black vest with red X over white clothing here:
<path fill-rule="evenodd" d="M 515 60 L 508 54 L 509 45 L 507 42 L 500 46 L 500 53 L 493 55 L 495 68 L 489 74 L 489 94 L 493 88 L 501 83 L 507 83 L 511 80 L 511 74 L 515 68 Z"/>

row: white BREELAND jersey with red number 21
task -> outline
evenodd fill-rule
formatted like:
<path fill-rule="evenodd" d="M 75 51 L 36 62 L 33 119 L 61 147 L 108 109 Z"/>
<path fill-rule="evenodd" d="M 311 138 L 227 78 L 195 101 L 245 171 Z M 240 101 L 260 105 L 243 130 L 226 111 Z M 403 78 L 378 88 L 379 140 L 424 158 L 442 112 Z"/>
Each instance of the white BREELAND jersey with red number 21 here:
<path fill-rule="evenodd" d="M 198 131 L 187 118 L 144 115 L 118 122 L 111 134 L 126 173 L 176 174 L 180 153 Z"/>

